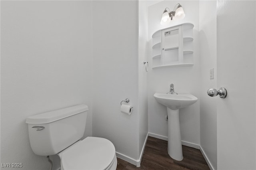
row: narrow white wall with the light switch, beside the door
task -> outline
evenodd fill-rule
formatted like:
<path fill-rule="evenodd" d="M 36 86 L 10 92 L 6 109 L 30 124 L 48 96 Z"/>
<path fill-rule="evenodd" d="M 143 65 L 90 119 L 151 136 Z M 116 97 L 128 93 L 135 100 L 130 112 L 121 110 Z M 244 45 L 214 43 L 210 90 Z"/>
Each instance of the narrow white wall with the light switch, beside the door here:
<path fill-rule="evenodd" d="M 217 105 L 218 97 L 210 97 L 206 91 L 217 87 L 216 74 L 216 6 L 217 1 L 200 0 L 200 146 L 208 163 L 217 169 Z M 214 79 L 209 71 L 214 68 Z"/>

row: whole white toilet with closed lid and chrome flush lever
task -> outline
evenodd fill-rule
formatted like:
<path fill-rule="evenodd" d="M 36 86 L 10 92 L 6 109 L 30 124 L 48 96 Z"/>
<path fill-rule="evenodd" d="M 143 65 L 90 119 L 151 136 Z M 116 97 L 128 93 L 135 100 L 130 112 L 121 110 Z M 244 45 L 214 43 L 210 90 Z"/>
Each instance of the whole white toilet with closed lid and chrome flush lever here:
<path fill-rule="evenodd" d="M 88 106 L 77 105 L 26 119 L 33 152 L 58 154 L 61 170 L 116 170 L 116 150 L 105 138 L 84 135 Z"/>

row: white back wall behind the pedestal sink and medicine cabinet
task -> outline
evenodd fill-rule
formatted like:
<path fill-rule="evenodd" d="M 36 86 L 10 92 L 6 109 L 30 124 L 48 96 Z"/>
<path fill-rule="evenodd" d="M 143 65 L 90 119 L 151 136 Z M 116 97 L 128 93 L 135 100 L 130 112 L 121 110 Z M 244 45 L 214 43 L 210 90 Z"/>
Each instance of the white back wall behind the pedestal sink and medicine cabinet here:
<path fill-rule="evenodd" d="M 181 3 L 186 17 L 183 20 L 171 22 L 161 26 L 162 12 L 166 7 L 173 9 L 177 3 Z M 152 54 L 150 52 L 150 64 L 148 71 L 148 117 L 150 133 L 158 136 L 168 136 L 168 122 L 165 119 L 167 109 L 157 103 L 153 95 L 155 92 L 169 92 L 170 84 L 174 84 L 175 92 L 191 93 L 199 98 L 200 96 L 200 56 L 198 49 L 199 30 L 199 1 L 161 1 L 148 8 L 148 39 L 150 51 L 152 51 L 152 34 L 157 30 L 174 26 L 181 23 L 191 22 L 194 24 L 194 66 L 172 67 L 152 69 Z M 194 105 L 180 109 L 180 128 L 183 141 L 193 144 L 200 144 L 200 100 Z"/>

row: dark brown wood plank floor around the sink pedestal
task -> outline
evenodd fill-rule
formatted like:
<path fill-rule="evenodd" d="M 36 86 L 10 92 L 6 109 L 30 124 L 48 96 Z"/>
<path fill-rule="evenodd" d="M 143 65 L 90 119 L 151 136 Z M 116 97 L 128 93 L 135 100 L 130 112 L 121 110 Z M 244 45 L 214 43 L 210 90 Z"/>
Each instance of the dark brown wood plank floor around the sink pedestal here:
<path fill-rule="evenodd" d="M 167 141 L 148 137 L 140 167 L 117 158 L 117 170 L 209 170 L 200 150 L 182 145 L 183 160 L 173 160 L 167 152 Z"/>

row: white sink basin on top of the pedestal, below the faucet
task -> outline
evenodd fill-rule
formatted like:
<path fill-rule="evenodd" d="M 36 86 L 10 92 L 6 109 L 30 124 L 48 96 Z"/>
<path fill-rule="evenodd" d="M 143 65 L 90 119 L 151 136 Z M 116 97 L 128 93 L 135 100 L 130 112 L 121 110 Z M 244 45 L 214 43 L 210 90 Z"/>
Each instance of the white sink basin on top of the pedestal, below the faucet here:
<path fill-rule="evenodd" d="M 176 94 L 166 94 L 166 93 L 155 93 L 154 97 L 158 103 L 165 105 L 166 107 L 177 110 L 183 107 L 187 107 L 196 103 L 197 97 L 189 93 L 178 93 Z"/>

